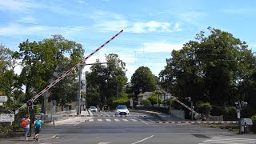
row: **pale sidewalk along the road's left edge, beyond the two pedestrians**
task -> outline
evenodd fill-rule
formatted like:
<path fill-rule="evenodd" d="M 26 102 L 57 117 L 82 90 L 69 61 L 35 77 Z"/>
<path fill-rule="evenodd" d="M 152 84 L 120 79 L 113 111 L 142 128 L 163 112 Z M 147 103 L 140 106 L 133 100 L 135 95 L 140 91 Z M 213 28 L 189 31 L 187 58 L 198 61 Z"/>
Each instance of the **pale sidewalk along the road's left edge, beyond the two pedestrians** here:
<path fill-rule="evenodd" d="M 81 111 L 81 115 L 89 115 L 89 114 L 90 113 L 88 111 Z M 85 121 L 89 120 L 90 118 L 92 118 L 92 117 L 70 117 L 67 119 L 50 122 L 50 123 L 47 123 L 46 125 L 47 126 L 53 126 L 53 125 L 58 126 L 58 125 L 66 125 L 66 124 L 78 125 L 79 123 L 85 122 Z"/>

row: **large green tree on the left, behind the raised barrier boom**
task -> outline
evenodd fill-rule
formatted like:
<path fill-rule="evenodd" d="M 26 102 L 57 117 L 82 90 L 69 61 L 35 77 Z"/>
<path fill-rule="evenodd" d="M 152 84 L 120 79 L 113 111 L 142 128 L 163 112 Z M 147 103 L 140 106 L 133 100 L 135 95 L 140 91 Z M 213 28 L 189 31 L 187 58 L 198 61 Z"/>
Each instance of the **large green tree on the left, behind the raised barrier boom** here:
<path fill-rule="evenodd" d="M 32 98 L 54 78 L 53 74 L 57 66 L 58 73 L 63 74 L 78 63 L 84 53 L 81 44 L 67 40 L 62 35 L 53 35 L 53 38 L 46 38 L 39 42 L 26 40 L 20 43 L 19 48 L 23 65 L 21 81 L 26 86 L 26 99 Z M 75 75 L 71 74 L 71 77 Z M 72 84 L 74 78 L 68 79 L 70 81 L 66 83 Z M 57 89 L 61 87 L 62 92 L 70 93 L 69 89 L 65 89 L 66 86 L 58 84 L 55 86 Z"/>

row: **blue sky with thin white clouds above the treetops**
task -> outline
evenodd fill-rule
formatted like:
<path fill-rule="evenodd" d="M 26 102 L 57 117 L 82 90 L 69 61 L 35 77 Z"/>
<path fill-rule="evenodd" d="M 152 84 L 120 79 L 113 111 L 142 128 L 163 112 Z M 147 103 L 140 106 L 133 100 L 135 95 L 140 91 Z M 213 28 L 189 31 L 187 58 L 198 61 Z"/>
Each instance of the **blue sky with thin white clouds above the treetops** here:
<path fill-rule="evenodd" d="M 118 54 L 130 79 L 139 66 L 158 75 L 172 50 L 208 26 L 234 34 L 256 51 L 255 7 L 254 0 L 0 0 L 0 43 L 18 50 L 27 38 L 62 34 L 82 43 L 88 55 L 124 30 L 87 63 Z"/>

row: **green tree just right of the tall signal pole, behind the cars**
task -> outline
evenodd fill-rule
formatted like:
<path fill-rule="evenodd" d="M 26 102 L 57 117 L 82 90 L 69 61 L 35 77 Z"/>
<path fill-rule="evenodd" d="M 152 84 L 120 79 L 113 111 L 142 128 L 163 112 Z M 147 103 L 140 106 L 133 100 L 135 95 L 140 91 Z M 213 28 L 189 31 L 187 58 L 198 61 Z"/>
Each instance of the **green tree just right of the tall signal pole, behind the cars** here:
<path fill-rule="evenodd" d="M 101 64 L 99 60 L 90 67 L 87 74 L 87 98 L 90 104 L 113 104 L 114 99 L 125 96 L 126 64 L 118 58 L 118 54 L 108 54 L 107 64 Z M 93 100 L 98 102 L 93 102 Z"/>

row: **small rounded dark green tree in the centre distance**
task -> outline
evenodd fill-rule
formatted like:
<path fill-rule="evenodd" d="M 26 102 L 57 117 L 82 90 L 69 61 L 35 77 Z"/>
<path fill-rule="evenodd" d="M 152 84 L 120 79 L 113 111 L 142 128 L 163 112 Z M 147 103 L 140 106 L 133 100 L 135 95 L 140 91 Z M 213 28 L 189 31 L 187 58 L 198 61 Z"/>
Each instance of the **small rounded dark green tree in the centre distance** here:
<path fill-rule="evenodd" d="M 157 79 L 152 74 L 150 68 L 140 66 L 132 75 L 130 83 L 133 86 L 134 95 L 137 96 L 140 90 L 142 90 L 142 93 L 156 90 Z"/>

